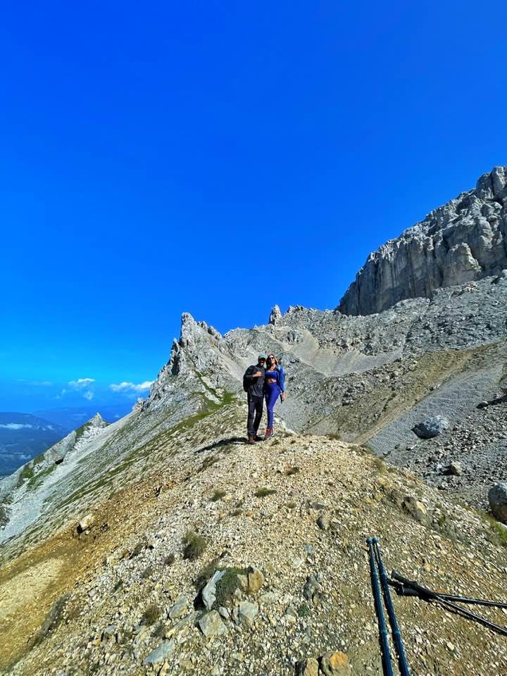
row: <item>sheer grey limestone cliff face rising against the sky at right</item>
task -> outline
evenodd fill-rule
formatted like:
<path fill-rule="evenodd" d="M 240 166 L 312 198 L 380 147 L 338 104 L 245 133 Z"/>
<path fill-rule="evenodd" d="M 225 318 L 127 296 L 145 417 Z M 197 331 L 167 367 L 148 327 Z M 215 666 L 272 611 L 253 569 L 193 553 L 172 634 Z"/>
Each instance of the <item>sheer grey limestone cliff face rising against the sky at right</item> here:
<path fill-rule="evenodd" d="M 507 268 L 507 167 L 370 253 L 338 310 L 370 315 Z"/>

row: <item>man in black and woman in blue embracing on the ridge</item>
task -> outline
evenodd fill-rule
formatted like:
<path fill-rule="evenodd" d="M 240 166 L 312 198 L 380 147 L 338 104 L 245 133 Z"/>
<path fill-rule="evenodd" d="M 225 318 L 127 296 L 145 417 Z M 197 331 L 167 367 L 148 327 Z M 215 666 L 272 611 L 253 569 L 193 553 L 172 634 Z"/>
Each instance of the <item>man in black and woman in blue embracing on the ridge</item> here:
<path fill-rule="evenodd" d="M 249 417 L 248 417 L 248 442 L 253 444 L 260 441 L 257 436 L 263 413 L 263 399 L 266 400 L 268 410 L 268 427 L 266 427 L 264 439 L 273 437 L 273 408 L 278 397 L 285 399 L 285 373 L 278 365 L 274 354 L 261 353 L 256 365 L 249 366 L 243 376 L 243 389 L 248 394 Z"/>

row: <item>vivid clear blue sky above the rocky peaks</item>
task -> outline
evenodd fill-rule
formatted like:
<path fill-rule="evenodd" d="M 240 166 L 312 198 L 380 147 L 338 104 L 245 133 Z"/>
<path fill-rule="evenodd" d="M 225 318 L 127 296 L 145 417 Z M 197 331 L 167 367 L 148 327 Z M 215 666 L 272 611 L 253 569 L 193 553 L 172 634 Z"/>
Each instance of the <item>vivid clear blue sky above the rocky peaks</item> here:
<path fill-rule="evenodd" d="M 506 25 L 503 0 L 5 6 L 0 408 L 30 408 L 15 380 L 153 380 L 182 311 L 336 306 L 507 163 Z"/>

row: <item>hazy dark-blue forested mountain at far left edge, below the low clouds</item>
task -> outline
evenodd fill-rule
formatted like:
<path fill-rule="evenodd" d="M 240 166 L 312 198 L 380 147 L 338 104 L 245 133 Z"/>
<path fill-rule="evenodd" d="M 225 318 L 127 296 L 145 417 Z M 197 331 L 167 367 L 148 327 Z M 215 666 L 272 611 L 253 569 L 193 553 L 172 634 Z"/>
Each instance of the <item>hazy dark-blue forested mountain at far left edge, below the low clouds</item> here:
<path fill-rule="evenodd" d="M 0 413 L 0 476 L 63 439 L 68 427 L 30 413 Z"/>

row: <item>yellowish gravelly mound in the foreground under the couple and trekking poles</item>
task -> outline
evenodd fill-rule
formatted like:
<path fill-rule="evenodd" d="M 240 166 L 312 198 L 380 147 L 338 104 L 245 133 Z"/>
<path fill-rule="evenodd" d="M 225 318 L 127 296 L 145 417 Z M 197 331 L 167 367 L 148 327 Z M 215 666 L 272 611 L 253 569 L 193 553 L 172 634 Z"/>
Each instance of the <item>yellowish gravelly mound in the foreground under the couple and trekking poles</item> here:
<path fill-rule="evenodd" d="M 409 577 L 502 598 L 506 549 L 480 515 L 358 446 L 287 434 L 246 449 L 244 412 L 229 403 L 168 433 L 151 472 L 89 513 L 82 503 L 58 535 L 4 565 L 0 654 L 13 675 L 292 675 L 327 655 L 336 673 L 380 673 L 370 534 Z M 227 584 L 213 601 L 204 585 L 216 572 Z M 503 637 L 394 602 L 414 673 L 507 670 Z"/>

